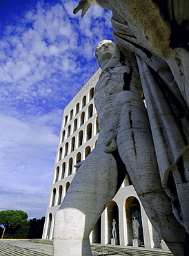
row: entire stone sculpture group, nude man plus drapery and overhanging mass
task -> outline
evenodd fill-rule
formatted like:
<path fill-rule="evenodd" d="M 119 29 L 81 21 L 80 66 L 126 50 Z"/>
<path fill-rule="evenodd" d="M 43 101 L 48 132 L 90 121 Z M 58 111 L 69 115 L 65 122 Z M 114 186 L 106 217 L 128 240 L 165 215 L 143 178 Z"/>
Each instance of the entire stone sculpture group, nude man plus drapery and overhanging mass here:
<path fill-rule="evenodd" d="M 172 253 L 186 256 L 189 1 L 81 0 L 74 13 L 90 4 L 112 10 L 117 46 L 97 47 L 99 140 L 55 216 L 54 256 L 91 255 L 88 236 L 126 173 Z"/>

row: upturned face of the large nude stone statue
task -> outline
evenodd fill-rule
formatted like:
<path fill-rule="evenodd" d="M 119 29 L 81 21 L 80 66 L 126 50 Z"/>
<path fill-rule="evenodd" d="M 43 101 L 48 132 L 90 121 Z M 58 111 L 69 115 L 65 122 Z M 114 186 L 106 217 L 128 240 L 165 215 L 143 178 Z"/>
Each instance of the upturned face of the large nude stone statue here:
<path fill-rule="evenodd" d="M 112 57 L 113 52 L 115 51 L 115 46 L 112 43 L 103 44 L 98 50 L 98 60 L 99 63 L 103 62 L 103 60 L 109 60 Z"/>

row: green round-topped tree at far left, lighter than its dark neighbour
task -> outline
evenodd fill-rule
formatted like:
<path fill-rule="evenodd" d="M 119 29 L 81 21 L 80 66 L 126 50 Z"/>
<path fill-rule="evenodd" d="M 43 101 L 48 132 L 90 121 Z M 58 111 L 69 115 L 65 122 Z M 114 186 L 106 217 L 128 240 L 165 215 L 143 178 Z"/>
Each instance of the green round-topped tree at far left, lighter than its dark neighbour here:
<path fill-rule="evenodd" d="M 0 212 L 0 226 L 3 226 L 3 235 L 6 230 L 6 228 L 12 232 L 8 232 L 7 238 L 13 238 L 12 233 L 18 232 L 19 228 L 27 223 L 28 214 L 26 212 L 23 212 L 22 210 L 3 210 Z M 1 238 L 3 238 L 3 235 Z M 15 237 L 16 238 L 16 237 Z M 20 237 L 17 237 L 20 238 Z"/>

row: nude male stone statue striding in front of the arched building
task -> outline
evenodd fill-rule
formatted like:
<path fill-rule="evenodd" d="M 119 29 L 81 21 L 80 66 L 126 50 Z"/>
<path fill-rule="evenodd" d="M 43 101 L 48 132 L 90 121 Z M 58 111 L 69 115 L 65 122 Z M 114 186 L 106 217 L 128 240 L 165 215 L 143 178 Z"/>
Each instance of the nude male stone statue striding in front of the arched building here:
<path fill-rule="evenodd" d="M 80 164 L 55 216 L 54 256 L 91 255 L 88 236 L 126 172 L 144 208 L 151 210 L 152 224 L 175 255 L 184 255 L 186 234 L 161 185 L 135 55 L 128 51 L 124 57 L 119 46 L 105 40 L 96 56 L 102 69 L 94 90 L 99 139 Z"/>

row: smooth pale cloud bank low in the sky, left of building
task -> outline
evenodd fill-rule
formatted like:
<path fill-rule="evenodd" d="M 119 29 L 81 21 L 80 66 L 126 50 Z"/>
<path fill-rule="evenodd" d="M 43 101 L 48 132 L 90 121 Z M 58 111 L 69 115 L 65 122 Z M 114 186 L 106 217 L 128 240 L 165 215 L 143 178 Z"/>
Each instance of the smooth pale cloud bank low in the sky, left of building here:
<path fill-rule="evenodd" d="M 55 126 L 61 120 L 61 111 L 37 118 L 32 117 L 30 122 L 23 122 L 2 114 L 0 120 L 1 188 L 10 190 L 12 194 L 8 201 L 7 197 L 1 194 L 1 205 L 3 205 L 1 210 L 6 207 L 20 209 L 19 203 L 23 203 L 26 199 L 28 201 L 29 195 L 33 200 L 32 206 L 37 206 L 41 200 L 39 194 L 44 194 L 46 201 L 42 203 L 43 211 L 36 212 L 36 214 L 45 214 L 58 143 Z M 20 191 L 22 196 L 16 200 L 17 191 Z M 31 209 L 24 208 L 30 215 L 34 214 Z"/>

